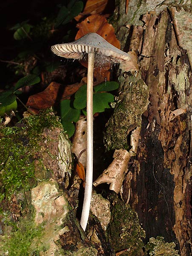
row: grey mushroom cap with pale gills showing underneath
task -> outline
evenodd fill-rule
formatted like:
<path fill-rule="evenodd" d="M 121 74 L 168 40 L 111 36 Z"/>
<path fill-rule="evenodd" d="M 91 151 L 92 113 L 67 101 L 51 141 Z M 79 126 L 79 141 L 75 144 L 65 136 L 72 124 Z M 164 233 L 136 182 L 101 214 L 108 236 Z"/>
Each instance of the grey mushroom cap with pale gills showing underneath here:
<path fill-rule="evenodd" d="M 82 59 L 83 53 L 94 50 L 110 58 L 113 62 L 127 61 L 131 56 L 109 44 L 104 38 L 96 33 L 88 33 L 74 42 L 67 44 L 55 44 L 51 47 L 52 52 L 64 58 Z"/>

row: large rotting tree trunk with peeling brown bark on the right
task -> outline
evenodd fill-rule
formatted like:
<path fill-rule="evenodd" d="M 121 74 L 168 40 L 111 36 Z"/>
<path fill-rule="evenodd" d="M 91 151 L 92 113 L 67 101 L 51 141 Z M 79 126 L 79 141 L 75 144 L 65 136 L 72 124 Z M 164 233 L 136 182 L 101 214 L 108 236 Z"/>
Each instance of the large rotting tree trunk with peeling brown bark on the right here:
<path fill-rule="evenodd" d="M 146 231 L 145 241 L 163 236 L 175 242 L 181 256 L 192 253 L 190 7 L 131 0 L 126 14 L 125 1 L 117 5 L 118 37 L 125 51 L 138 53 L 139 81 L 147 85 L 150 103 L 147 111 L 137 111 L 138 102 L 146 105 L 147 93 L 140 93 L 137 74 L 121 73 L 120 96 L 105 138 L 109 149 L 130 150 L 130 135 L 141 126 L 123 199 L 129 201 L 131 194 L 129 203 Z"/>

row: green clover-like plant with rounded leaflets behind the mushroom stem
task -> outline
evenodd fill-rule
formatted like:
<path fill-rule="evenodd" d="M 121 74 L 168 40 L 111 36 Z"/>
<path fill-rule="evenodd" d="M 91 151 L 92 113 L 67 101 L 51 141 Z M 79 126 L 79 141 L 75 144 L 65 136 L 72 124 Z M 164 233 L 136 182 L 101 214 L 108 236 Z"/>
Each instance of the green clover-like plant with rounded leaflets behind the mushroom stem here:
<path fill-rule="evenodd" d="M 65 99 L 60 103 L 61 123 L 68 136 L 71 137 L 75 132 L 75 125 L 80 117 L 81 111 L 86 115 L 86 84 L 83 84 L 75 93 L 75 99 Z M 119 84 L 115 81 L 107 81 L 93 87 L 93 114 L 104 112 L 110 108 L 109 103 L 114 102 L 114 96 L 107 91 L 116 90 Z"/>

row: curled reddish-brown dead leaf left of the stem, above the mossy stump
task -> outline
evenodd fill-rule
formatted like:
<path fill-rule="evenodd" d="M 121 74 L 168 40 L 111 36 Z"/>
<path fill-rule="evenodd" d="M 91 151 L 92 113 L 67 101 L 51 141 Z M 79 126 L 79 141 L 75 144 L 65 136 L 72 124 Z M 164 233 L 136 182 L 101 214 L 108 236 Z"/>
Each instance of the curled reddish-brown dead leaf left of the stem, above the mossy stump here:
<path fill-rule="evenodd" d="M 39 110 L 50 108 L 57 104 L 59 100 L 69 99 L 83 84 L 85 84 L 83 79 L 80 83 L 66 85 L 65 87 L 52 82 L 43 92 L 29 96 L 26 106 Z"/>

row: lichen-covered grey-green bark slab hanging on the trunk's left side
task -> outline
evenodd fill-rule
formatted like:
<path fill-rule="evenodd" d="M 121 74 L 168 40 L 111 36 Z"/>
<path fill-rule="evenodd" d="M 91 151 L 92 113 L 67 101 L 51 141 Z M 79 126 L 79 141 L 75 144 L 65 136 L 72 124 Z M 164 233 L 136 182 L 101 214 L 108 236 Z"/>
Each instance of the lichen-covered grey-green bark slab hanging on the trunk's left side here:
<path fill-rule="evenodd" d="M 113 116 L 106 124 L 105 145 L 110 149 L 129 150 L 129 133 L 141 125 L 141 115 L 149 104 L 148 87 L 140 74 L 120 77 L 120 92 Z"/>

